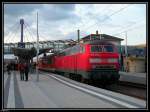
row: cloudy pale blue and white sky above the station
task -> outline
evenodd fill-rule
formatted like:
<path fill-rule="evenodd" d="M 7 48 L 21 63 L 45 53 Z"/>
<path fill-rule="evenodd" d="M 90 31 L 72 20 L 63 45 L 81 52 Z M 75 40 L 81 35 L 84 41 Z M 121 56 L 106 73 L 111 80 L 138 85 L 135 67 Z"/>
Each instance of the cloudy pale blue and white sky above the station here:
<path fill-rule="evenodd" d="M 4 4 L 4 42 L 36 41 L 36 14 L 40 40 L 77 39 L 95 33 L 125 39 L 128 45 L 146 43 L 146 4 Z M 122 41 L 122 45 L 125 41 Z"/>

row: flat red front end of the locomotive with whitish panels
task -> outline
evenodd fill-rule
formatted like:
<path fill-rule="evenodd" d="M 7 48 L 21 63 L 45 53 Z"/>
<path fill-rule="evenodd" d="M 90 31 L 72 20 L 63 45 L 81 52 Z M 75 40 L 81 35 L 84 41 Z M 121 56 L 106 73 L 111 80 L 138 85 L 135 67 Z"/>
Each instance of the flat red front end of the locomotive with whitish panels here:
<path fill-rule="evenodd" d="M 89 46 L 89 66 L 92 80 L 115 83 L 119 80 L 119 54 L 111 44 Z"/>

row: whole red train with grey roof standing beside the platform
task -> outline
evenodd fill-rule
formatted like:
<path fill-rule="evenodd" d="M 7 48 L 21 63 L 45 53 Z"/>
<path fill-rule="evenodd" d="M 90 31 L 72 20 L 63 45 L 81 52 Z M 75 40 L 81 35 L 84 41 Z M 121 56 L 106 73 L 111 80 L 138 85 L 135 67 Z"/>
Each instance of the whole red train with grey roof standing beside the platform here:
<path fill-rule="evenodd" d="M 80 43 L 58 54 L 42 57 L 38 67 L 64 73 L 67 77 L 112 84 L 119 80 L 119 54 L 115 45 L 96 40 Z"/>

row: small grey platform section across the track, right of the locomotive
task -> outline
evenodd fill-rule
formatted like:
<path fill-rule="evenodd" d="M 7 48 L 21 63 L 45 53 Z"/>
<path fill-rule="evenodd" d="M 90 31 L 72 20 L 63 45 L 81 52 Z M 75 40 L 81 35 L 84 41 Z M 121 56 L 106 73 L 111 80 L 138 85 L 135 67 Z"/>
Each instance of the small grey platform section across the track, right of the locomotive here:
<path fill-rule="evenodd" d="M 136 84 L 147 84 L 147 74 L 146 73 L 133 73 L 133 72 L 122 72 L 119 71 L 120 81 L 131 82 Z"/>

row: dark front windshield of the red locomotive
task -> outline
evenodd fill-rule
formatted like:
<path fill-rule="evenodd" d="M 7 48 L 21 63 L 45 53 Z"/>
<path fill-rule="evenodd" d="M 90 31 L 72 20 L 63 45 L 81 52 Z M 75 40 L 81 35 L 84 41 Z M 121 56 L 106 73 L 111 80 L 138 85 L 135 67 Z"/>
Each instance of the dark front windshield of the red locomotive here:
<path fill-rule="evenodd" d="M 112 45 L 91 45 L 91 52 L 114 52 Z"/>

